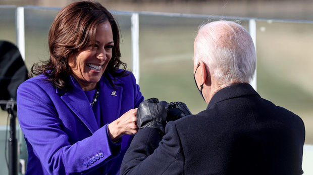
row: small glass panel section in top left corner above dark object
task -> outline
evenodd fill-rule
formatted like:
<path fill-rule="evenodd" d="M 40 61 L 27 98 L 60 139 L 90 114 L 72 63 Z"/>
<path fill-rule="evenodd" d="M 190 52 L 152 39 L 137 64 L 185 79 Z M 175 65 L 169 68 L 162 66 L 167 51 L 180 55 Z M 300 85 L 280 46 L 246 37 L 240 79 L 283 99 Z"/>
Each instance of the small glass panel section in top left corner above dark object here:
<path fill-rule="evenodd" d="M 16 45 L 15 18 L 16 7 L 0 7 L 0 40 L 7 40 Z"/>

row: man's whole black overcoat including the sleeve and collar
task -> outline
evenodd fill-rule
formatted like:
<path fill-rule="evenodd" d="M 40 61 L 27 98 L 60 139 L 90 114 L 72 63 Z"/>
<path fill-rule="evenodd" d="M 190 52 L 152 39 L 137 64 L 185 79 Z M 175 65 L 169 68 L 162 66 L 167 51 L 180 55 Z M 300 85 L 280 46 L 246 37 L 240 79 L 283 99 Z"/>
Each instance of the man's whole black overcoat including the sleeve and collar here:
<path fill-rule="evenodd" d="M 304 137 L 299 116 L 234 84 L 206 110 L 169 122 L 163 138 L 140 129 L 121 174 L 302 174 Z"/>

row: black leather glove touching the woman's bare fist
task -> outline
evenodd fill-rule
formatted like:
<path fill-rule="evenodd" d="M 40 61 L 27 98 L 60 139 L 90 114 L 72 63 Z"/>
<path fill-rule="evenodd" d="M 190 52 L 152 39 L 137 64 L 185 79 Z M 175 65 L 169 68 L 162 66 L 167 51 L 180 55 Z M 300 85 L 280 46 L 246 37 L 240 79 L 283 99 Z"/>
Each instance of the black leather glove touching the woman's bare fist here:
<path fill-rule="evenodd" d="M 159 102 L 156 98 L 141 102 L 137 109 L 138 128 L 152 127 L 159 129 L 161 134 L 164 134 L 168 107 L 168 102 Z"/>

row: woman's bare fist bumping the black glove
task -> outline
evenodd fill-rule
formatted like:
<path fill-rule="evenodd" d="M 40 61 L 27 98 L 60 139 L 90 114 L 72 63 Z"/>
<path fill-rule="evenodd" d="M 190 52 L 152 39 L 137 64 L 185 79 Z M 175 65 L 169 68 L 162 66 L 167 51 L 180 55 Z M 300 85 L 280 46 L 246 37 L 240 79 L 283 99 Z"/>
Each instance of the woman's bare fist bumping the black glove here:
<path fill-rule="evenodd" d="M 138 131 L 137 108 L 131 109 L 120 118 L 108 124 L 108 132 L 111 140 L 117 142 L 123 135 L 135 135 Z"/>

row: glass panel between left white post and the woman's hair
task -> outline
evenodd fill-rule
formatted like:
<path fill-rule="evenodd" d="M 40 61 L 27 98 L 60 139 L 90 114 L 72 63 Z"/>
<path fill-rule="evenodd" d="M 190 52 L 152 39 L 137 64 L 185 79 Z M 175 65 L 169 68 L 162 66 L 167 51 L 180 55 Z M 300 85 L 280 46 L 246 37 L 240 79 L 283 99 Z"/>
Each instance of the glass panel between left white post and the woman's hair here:
<path fill-rule="evenodd" d="M 58 10 L 25 8 L 25 64 L 49 59 L 48 32 Z"/>

